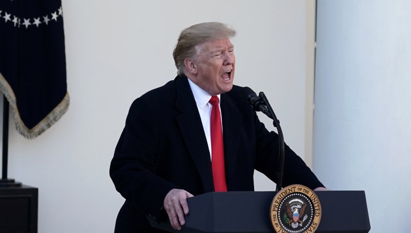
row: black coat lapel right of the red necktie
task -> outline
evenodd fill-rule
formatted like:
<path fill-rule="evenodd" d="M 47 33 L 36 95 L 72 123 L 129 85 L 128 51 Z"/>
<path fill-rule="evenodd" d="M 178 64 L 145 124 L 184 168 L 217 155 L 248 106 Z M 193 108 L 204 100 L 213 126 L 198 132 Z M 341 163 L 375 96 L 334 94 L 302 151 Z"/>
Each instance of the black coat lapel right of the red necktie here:
<path fill-rule="evenodd" d="M 220 106 L 224 138 L 225 175 L 227 188 L 230 191 L 230 179 L 236 164 L 242 115 L 236 108 L 235 101 L 228 94 L 221 94 Z"/>

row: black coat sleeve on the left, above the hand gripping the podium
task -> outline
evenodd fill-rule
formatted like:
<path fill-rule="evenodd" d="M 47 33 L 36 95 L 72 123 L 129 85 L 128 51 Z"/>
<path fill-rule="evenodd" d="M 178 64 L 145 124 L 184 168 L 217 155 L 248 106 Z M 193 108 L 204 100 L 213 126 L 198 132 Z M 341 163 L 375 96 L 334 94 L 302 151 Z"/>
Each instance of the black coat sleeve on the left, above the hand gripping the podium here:
<path fill-rule="evenodd" d="M 110 165 L 116 190 L 140 212 L 156 218 L 167 193 L 178 188 L 155 174 L 157 115 L 144 96 L 132 103 Z"/>

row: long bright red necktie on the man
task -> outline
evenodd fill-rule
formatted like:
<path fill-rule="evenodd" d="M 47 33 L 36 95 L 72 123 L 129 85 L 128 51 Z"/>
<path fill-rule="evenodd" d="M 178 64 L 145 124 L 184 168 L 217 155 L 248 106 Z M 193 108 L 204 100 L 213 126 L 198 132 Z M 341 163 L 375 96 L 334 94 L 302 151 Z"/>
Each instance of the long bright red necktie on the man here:
<path fill-rule="evenodd" d="M 213 105 L 211 110 L 211 167 L 213 169 L 214 190 L 216 192 L 226 192 L 224 167 L 224 145 L 221 128 L 220 107 L 218 97 L 212 96 L 210 101 Z"/>

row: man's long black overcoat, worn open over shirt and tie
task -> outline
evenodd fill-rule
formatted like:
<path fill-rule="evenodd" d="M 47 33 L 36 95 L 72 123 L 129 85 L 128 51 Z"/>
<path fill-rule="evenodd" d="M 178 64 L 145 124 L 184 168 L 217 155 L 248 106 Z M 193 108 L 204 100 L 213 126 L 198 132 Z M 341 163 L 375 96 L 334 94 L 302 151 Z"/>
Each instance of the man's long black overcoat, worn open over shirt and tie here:
<path fill-rule="evenodd" d="M 228 191 L 254 191 L 254 170 L 276 181 L 278 135 L 269 132 L 248 103 L 241 87 L 221 94 L 224 159 Z M 323 187 L 304 161 L 286 146 L 283 184 Z M 187 77 L 136 99 L 111 161 L 110 176 L 126 199 L 116 232 L 163 232 L 151 229 L 166 194 L 174 188 L 193 195 L 214 191 L 210 152 Z"/>

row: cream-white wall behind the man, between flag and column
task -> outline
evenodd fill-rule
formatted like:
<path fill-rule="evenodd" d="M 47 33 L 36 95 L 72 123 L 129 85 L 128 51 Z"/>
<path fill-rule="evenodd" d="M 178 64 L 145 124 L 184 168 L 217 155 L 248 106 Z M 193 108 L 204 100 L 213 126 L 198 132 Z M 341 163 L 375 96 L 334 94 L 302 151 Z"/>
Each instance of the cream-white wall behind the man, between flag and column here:
<path fill-rule="evenodd" d="M 69 111 L 32 141 L 17 134 L 10 119 L 9 177 L 39 188 L 39 232 L 113 231 L 123 198 L 108 168 L 128 108 L 175 77 L 178 34 L 198 22 L 237 29 L 235 83 L 265 92 L 286 142 L 304 157 L 305 1 L 62 4 Z M 272 130 L 271 121 L 261 118 Z M 256 189 L 275 185 L 258 177 Z"/>

